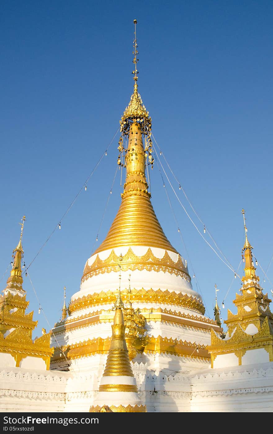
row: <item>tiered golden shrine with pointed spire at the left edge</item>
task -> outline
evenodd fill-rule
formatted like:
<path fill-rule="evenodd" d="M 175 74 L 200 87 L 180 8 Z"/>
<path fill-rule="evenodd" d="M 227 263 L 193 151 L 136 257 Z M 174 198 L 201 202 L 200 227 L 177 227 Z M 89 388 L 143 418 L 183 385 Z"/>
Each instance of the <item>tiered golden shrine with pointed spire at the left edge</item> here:
<path fill-rule="evenodd" d="M 33 321 L 33 311 L 25 313 L 29 302 L 24 291 L 21 262 L 23 258 L 22 236 L 26 217 L 22 218 L 21 235 L 17 247 L 13 250 L 12 270 L 7 279 L 7 286 L 0 296 L 0 365 L 14 363 L 16 367 L 26 367 L 37 358 L 44 361 L 49 369 L 50 357 L 54 349 L 50 348 L 50 333 L 33 341 L 32 332 L 38 324 Z M 12 358 L 15 362 L 12 362 Z M 39 363 L 43 366 L 43 363 Z"/>

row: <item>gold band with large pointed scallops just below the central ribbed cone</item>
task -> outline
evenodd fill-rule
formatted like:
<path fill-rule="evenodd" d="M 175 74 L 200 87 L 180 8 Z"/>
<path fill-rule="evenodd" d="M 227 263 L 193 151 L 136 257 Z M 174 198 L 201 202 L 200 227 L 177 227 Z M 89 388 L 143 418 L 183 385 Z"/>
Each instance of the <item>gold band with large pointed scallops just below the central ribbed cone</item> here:
<path fill-rule="evenodd" d="M 120 270 L 119 263 L 119 256 L 116 255 L 114 249 L 111 250 L 111 253 L 105 260 L 101 260 L 98 253 L 92 265 L 89 266 L 88 262 L 86 263 L 82 275 L 82 282 L 92 276 L 97 276 L 99 274 L 111 273 L 111 271 L 118 273 Z M 184 266 L 180 255 L 178 255 L 178 261 L 174 262 L 167 250 L 165 250 L 164 256 L 162 258 L 157 258 L 153 254 L 150 247 L 142 256 L 135 255 L 132 248 L 129 247 L 127 253 L 125 253 L 122 259 L 122 271 L 127 270 L 147 270 L 155 272 L 163 271 L 164 273 L 180 276 L 187 280 L 187 282 L 191 281 L 191 278 L 187 273 L 187 268 Z"/>

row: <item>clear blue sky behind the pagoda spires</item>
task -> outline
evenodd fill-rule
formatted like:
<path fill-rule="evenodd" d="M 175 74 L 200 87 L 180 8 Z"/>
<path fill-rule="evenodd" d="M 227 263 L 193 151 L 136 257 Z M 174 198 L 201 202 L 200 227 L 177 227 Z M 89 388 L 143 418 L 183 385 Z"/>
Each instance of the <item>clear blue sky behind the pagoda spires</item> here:
<path fill-rule="evenodd" d="M 241 259 L 244 208 L 253 253 L 263 270 L 268 268 L 273 255 L 273 3 L 2 1 L 0 277 L 18 243 L 23 214 L 28 265 L 115 135 L 133 91 L 134 19 L 138 90 L 164 157 L 232 267 L 237 269 Z M 68 300 L 79 290 L 101 221 L 98 243 L 118 210 L 120 172 L 104 214 L 118 138 L 63 218 L 61 230 L 55 230 L 29 268 L 50 327 L 61 315 L 63 286 Z M 163 156 L 161 162 L 194 224 L 217 250 Z M 240 279 L 233 280 L 234 273 L 197 232 L 164 173 L 163 178 L 174 214 L 156 164 L 152 204 L 167 237 L 188 260 L 191 276 L 195 273 L 198 287 L 196 278 L 193 287 L 204 297 L 208 316 L 213 316 L 214 284 L 222 302 L 233 281 L 222 310 L 226 319 L 227 308 L 236 313 L 232 300 Z M 242 266 L 238 273 L 242 276 Z M 257 273 L 263 277 L 259 266 Z M 269 293 L 271 282 L 272 263 L 262 282 Z M 28 277 L 24 289 L 39 319 L 34 337 L 49 325 L 38 315 Z"/>

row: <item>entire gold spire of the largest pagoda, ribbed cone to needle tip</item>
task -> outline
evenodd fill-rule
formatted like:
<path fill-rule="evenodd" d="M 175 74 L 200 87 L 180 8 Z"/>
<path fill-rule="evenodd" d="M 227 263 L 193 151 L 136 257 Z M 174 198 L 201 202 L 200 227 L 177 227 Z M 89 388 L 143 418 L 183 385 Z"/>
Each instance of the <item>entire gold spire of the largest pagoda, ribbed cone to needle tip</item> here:
<path fill-rule="evenodd" d="M 137 21 L 134 20 L 135 26 Z M 118 164 L 126 167 L 126 179 L 122 203 L 118 214 L 102 244 L 95 251 L 113 249 L 121 246 L 159 247 L 178 253 L 167 239 L 155 215 L 148 192 L 145 168 L 153 166 L 151 142 L 151 118 L 138 94 L 138 62 L 136 30 L 134 39 L 134 93 L 120 121 L 122 136 L 119 141 Z M 145 138 L 143 146 L 142 135 Z M 127 143 L 128 139 L 128 143 Z M 124 143 L 126 142 L 126 144 Z M 123 154 L 125 158 L 123 160 Z M 124 164 L 123 164 L 124 162 Z"/>

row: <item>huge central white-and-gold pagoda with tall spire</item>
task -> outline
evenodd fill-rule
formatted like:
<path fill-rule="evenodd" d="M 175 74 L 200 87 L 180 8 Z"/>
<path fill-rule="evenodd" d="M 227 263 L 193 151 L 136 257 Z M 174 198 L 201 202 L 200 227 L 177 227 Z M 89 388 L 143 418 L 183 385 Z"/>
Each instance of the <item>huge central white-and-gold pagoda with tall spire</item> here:
<path fill-rule="evenodd" d="M 138 93 L 136 23 L 134 90 L 120 120 L 118 141 L 118 169 L 126 176 L 121 203 L 105 239 L 86 260 L 67 316 L 53 328 L 52 345 L 62 351 L 54 354 L 51 369 L 89 366 L 95 371 L 99 366 L 102 371 L 111 345 L 112 305 L 121 270 L 129 359 L 147 365 L 147 372 L 154 369 L 155 358 L 159 369 L 164 369 L 170 357 L 177 372 L 186 369 L 187 363 L 206 366 L 211 327 L 222 332 L 214 319 L 205 316 L 187 260 L 168 240 L 151 203 L 149 172 L 154 150 L 151 117 Z"/>

